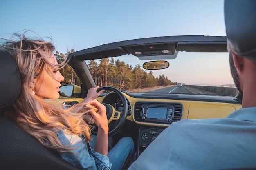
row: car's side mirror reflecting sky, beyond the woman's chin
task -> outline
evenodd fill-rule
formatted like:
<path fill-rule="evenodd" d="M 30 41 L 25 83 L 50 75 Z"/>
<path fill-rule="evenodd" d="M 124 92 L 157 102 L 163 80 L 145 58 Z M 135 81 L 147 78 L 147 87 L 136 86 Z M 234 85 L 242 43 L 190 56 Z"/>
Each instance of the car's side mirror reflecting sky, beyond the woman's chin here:
<path fill-rule="evenodd" d="M 81 87 L 74 84 L 66 84 L 60 87 L 60 95 L 63 97 L 81 97 Z"/>

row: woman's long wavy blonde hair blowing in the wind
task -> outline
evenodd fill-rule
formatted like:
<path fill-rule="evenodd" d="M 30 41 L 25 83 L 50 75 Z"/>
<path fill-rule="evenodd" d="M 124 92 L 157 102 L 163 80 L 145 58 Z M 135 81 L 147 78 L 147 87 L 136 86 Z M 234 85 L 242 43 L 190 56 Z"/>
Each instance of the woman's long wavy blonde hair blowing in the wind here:
<path fill-rule="evenodd" d="M 51 57 L 54 46 L 52 42 L 45 42 L 43 38 L 29 39 L 25 37 L 25 33 L 16 33 L 14 37 L 18 37 L 18 41 L 8 41 L 1 47 L 11 53 L 16 61 L 22 84 L 15 102 L 4 109 L 4 117 L 13 121 L 47 148 L 59 152 L 71 149 L 63 146 L 58 140 L 58 130 L 84 135 L 85 140 L 90 141 L 91 127 L 86 123 L 90 121 L 90 117 L 87 113 L 96 108 L 87 104 L 77 104 L 72 108 L 63 109 L 59 105 L 37 99 L 31 93 L 29 82 L 33 82 L 35 77 L 40 77 L 44 69 L 51 73 L 49 69 L 53 65 L 48 61 L 48 57 Z M 65 66 L 66 60 L 67 57 L 57 66 Z M 73 113 L 74 109 L 78 110 L 78 113 Z"/>

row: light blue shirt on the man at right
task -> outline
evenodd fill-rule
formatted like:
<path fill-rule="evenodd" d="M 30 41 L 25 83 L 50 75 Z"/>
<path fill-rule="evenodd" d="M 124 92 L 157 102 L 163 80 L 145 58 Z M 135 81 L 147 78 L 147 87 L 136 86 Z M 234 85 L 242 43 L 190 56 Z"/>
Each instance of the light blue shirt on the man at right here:
<path fill-rule="evenodd" d="M 256 107 L 223 119 L 172 123 L 128 170 L 218 170 L 256 167 Z"/>

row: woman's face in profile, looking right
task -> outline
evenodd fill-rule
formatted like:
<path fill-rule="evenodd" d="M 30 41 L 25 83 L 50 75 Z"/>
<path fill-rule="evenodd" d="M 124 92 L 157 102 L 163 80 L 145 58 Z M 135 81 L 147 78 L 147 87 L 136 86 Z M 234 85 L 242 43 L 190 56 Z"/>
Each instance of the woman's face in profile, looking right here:
<path fill-rule="evenodd" d="M 58 64 L 53 53 L 52 57 L 49 58 L 49 62 L 54 65 Z M 52 73 L 47 73 L 44 70 L 40 77 L 34 79 L 36 96 L 42 99 L 58 99 L 60 96 L 60 86 L 64 77 L 59 72 L 58 67 L 51 68 L 50 72 Z"/>

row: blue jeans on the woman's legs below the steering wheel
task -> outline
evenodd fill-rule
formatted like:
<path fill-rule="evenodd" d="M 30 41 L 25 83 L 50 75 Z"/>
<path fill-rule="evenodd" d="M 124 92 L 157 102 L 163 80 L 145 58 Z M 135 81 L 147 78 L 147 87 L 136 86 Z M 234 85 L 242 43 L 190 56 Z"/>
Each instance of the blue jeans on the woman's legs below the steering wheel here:
<path fill-rule="evenodd" d="M 92 149 L 95 147 L 96 136 L 92 135 L 90 146 Z M 112 163 L 111 170 L 121 170 L 128 157 L 133 158 L 134 155 L 134 142 L 130 137 L 121 138 L 117 144 L 108 152 L 108 158 Z"/>

